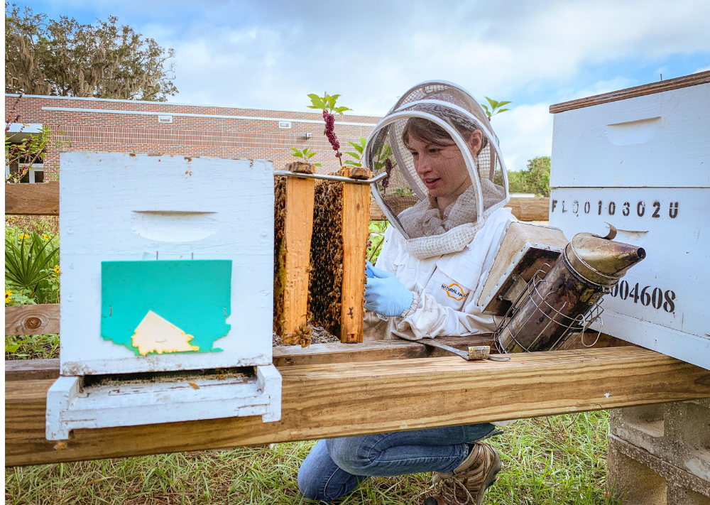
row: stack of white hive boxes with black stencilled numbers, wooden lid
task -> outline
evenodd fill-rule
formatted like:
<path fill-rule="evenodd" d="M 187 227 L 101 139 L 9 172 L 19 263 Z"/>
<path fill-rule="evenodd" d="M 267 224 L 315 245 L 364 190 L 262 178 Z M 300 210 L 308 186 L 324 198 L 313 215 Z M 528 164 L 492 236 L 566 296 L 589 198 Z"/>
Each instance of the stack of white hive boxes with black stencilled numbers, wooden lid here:
<path fill-rule="evenodd" d="M 710 72 L 674 81 L 555 113 L 550 225 L 643 246 L 603 332 L 710 369 Z"/>

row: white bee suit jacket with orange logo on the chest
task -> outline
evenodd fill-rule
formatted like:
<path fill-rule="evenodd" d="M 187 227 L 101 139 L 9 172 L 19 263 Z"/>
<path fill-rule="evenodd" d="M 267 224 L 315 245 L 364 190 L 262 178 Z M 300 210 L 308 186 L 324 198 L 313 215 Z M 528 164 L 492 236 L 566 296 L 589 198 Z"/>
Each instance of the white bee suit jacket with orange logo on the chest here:
<path fill-rule="evenodd" d="M 364 340 L 420 340 L 493 332 L 496 320 L 481 313 L 474 299 L 482 288 L 482 273 L 493 263 L 494 247 L 506 225 L 516 220 L 510 209 L 498 209 L 464 249 L 426 259 L 408 254 L 400 232 L 388 227 L 376 267 L 394 273 L 405 288 L 414 292 L 414 301 L 403 317 L 382 320 L 366 312 Z"/>

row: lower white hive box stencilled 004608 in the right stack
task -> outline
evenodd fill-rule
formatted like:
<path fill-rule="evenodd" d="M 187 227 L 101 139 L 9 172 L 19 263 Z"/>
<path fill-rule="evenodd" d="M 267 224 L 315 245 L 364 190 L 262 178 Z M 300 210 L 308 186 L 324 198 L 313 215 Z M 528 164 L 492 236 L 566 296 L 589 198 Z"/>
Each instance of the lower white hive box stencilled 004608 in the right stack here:
<path fill-rule="evenodd" d="M 635 320 L 670 328 L 682 335 L 696 335 L 710 342 L 710 190 L 703 188 L 562 188 L 552 191 L 550 224 L 564 231 L 567 237 L 579 232 L 606 234 L 606 223 L 620 232 L 616 240 L 643 246 L 646 257 L 630 268 L 620 283 L 622 293 L 603 298 L 604 332 L 626 338 L 634 331 L 613 330 L 608 326 L 613 313 L 628 315 Z M 587 203 L 589 202 L 589 206 Z M 599 214 L 601 202 L 601 215 Z M 654 205 L 654 202 L 658 202 Z M 677 202 L 676 217 L 670 217 Z M 627 205 L 628 204 L 628 205 Z M 589 208 L 589 212 L 584 212 Z M 610 214 L 610 208 L 613 215 Z M 628 209 L 628 215 L 624 215 Z M 563 212 L 564 210 L 564 212 Z M 657 211 L 658 217 L 653 217 Z M 639 216 L 639 213 L 643 213 Z M 630 233 L 631 232 L 631 233 Z M 652 300 L 630 293 L 636 283 L 645 293 L 662 291 L 663 300 Z M 660 293 L 656 291 L 656 295 Z M 672 291 L 672 305 L 666 292 Z M 668 293 L 671 296 L 671 293 Z M 624 299 L 626 298 L 626 299 Z M 646 303 L 648 302 L 648 303 Z M 672 308 L 673 310 L 667 310 Z M 674 352 L 677 340 L 663 340 L 665 354 L 710 368 L 710 354 L 704 357 L 682 358 Z M 635 342 L 638 343 L 638 342 Z M 644 344 L 640 344 L 644 345 Z M 651 347 L 650 342 L 644 347 Z M 701 364 L 704 363 L 704 364 Z"/>

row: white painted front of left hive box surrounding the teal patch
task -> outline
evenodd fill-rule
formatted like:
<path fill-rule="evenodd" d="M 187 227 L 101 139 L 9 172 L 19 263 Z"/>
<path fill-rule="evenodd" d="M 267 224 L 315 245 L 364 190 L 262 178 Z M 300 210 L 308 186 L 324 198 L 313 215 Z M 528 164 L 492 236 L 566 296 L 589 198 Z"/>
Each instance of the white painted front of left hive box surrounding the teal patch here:
<path fill-rule="evenodd" d="M 271 162 L 72 152 L 60 166 L 62 374 L 271 364 Z M 101 262 L 156 256 L 232 260 L 222 352 L 143 357 L 102 339 Z"/>

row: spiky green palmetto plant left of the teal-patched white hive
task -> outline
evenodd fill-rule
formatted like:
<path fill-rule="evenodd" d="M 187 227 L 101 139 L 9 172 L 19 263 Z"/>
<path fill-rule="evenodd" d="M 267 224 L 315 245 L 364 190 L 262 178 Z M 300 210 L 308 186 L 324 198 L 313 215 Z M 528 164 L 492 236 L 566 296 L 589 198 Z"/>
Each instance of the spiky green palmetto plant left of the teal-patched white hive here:
<path fill-rule="evenodd" d="M 59 247 L 55 237 L 43 239 L 36 233 L 22 232 L 5 236 L 5 282 L 30 291 L 30 296 L 40 295 L 50 286 L 46 281 L 54 273 Z M 47 296 L 38 296 L 40 301 Z"/>

